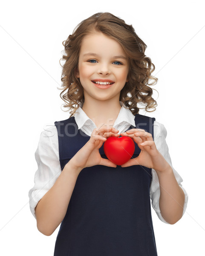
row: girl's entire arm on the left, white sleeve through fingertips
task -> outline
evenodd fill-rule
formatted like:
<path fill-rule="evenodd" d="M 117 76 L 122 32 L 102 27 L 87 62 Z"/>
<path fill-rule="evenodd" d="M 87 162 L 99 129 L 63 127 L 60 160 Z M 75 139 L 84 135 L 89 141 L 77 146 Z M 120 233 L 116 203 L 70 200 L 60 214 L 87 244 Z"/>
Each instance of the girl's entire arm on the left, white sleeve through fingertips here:
<path fill-rule="evenodd" d="M 35 154 L 38 163 L 35 187 L 29 192 L 32 213 L 41 233 L 50 236 L 64 219 L 76 180 L 82 169 L 98 164 L 116 167 L 110 160 L 101 158 L 98 151 L 106 137 L 118 136 L 117 131 L 112 131 L 113 128 L 105 126 L 98 130 L 94 129 L 90 140 L 69 160 L 62 172 L 58 170 L 60 163 L 55 142 L 58 140 L 57 137 L 54 139 L 55 136 L 50 136 L 46 132 L 41 134 Z M 58 175 L 59 171 L 60 175 Z M 58 175 L 57 179 L 56 175 Z M 35 204 L 37 201 L 38 204 Z"/>

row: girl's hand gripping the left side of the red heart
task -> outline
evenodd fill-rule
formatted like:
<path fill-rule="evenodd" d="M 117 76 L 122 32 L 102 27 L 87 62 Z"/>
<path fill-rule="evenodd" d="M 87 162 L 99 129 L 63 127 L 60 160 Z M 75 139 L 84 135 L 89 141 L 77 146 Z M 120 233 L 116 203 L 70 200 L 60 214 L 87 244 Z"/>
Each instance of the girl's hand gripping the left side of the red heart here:
<path fill-rule="evenodd" d="M 99 148 L 107 140 L 108 137 L 119 137 L 118 130 L 108 125 L 103 125 L 100 128 L 95 128 L 92 131 L 90 140 L 71 158 L 68 164 L 78 169 L 80 172 L 85 167 L 104 165 L 109 167 L 116 167 L 115 163 L 110 160 L 102 158 L 99 153 Z"/>

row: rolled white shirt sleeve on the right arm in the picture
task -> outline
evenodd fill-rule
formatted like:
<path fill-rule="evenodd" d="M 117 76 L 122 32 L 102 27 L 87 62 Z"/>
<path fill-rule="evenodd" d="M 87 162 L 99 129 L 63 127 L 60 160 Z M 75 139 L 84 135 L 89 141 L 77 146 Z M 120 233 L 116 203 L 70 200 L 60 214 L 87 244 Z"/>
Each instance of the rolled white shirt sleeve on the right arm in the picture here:
<path fill-rule="evenodd" d="M 171 158 L 169 154 L 169 149 L 166 143 L 166 137 L 167 137 L 167 130 L 165 126 L 159 122 L 154 121 L 154 142 L 156 145 L 156 148 L 158 151 L 165 157 L 165 160 L 167 163 L 170 164 L 170 166 L 173 169 L 174 176 L 179 184 L 179 186 L 182 188 L 184 194 L 185 194 L 185 203 L 184 203 L 184 209 L 183 209 L 183 215 L 185 213 L 185 210 L 187 208 L 188 203 L 188 194 L 186 190 L 182 187 L 182 177 L 176 172 L 176 170 L 173 168 L 171 163 Z M 159 187 L 159 179 L 156 171 L 152 169 L 152 181 L 150 185 L 150 198 L 152 201 L 152 207 L 155 210 L 156 214 L 158 215 L 159 219 L 166 224 L 169 224 L 165 219 L 162 217 L 162 214 L 160 212 L 159 208 L 159 197 L 160 197 L 160 187 Z"/>

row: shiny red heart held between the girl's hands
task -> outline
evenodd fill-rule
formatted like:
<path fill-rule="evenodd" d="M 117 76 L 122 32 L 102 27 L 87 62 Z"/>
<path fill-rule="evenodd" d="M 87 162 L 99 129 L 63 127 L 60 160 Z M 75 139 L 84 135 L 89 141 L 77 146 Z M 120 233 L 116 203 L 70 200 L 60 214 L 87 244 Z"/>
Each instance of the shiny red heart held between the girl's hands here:
<path fill-rule="evenodd" d="M 104 142 L 104 153 L 107 158 L 116 165 L 126 163 L 133 156 L 135 143 L 127 136 L 108 137 Z"/>

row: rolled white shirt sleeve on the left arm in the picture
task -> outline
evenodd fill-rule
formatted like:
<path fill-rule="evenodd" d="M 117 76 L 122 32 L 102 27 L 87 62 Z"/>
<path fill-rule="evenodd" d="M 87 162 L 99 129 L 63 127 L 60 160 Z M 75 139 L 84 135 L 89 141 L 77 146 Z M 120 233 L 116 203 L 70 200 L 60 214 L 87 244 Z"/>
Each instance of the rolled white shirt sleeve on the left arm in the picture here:
<path fill-rule="evenodd" d="M 35 160 L 38 169 L 34 177 L 35 185 L 29 190 L 29 206 L 36 218 L 35 207 L 61 174 L 58 132 L 55 125 L 41 132 L 38 148 L 35 151 Z"/>

